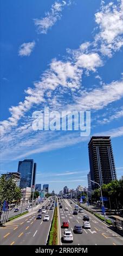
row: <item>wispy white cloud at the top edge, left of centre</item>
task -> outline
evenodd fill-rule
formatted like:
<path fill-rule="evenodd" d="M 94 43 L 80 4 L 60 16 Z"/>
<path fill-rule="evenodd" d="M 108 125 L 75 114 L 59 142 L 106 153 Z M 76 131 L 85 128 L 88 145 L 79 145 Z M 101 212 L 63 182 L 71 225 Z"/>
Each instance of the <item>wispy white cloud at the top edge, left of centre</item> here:
<path fill-rule="evenodd" d="M 48 29 L 53 27 L 57 20 L 61 19 L 62 10 L 67 4 L 65 1 L 55 2 L 51 5 L 51 9 L 43 19 L 34 19 L 35 26 L 37 27 L 37 32 L 41 34 L 47 34 Z"/>

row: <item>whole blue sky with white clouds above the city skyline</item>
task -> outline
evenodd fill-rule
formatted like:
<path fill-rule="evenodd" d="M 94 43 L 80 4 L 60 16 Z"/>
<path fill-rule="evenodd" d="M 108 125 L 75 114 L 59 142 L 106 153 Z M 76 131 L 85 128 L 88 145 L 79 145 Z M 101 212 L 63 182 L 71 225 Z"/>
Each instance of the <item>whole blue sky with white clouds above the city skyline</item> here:
<path fill-rule="evenodd" d="M 122 12 L 122 0 L 1 1 L 1 173 L 33 158 L 50 191 L 87 186 L 90 136 L 109 135 L 123 175 Z M 45 106 L 90 111 L 90 136 L 33 131 Z"/>

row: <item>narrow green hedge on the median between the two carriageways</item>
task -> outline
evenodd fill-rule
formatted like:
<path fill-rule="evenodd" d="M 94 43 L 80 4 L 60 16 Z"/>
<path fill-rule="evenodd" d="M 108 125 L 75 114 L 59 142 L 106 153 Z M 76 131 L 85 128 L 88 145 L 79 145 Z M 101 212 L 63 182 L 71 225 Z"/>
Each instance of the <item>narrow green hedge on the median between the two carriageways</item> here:
<path fill-rule="evenodd" d="M 55 208 L 53 221 L 51 223 L 48 245 L 57 245 L 57 207 Z"/>

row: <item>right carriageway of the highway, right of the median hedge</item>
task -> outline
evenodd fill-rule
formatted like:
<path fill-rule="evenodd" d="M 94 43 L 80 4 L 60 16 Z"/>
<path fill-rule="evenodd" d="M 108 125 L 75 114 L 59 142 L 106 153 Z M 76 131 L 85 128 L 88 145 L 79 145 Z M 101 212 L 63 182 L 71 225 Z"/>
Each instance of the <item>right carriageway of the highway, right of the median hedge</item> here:
<path fill-rule="evenodd" d="M 60 227 L 61 227 L 61 245 L 122 245 L 123 237 L 112 231 L 105 223 L 102 223 L 95 216 L 84 210 L 83 213 L 78 212 L 78 215 L 73 215 L 75 203 L 70 199 L 63 199 L 63 208 L 59 208 Z M 65 211 L 65 207 L 68 211 Z M 83 229 L 82 234 L 74 234 L 74 225 L 83 225 L 83 215 L 89 216 L 90 229 Z M 72 243 L 63 242 L 62 236 L 64 228 L 62 228 L 62 222 L 67 221 L 69 223 L 69 230 L 72 231 L 74 241 Z"/>

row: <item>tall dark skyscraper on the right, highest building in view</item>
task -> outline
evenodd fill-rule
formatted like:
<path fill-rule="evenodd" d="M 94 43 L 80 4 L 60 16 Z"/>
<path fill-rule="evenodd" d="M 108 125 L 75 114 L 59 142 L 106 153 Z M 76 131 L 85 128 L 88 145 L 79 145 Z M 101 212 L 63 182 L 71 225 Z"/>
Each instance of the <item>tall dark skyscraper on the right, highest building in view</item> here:
<path fill-rule="evenodd" d="M 116 179 L 114 157 L 109 136 L 92 137 L 88 143 L 90 178 L 100 185 Z M 94 190 L 96 184 L 92 182 Z"/>

